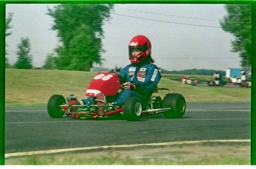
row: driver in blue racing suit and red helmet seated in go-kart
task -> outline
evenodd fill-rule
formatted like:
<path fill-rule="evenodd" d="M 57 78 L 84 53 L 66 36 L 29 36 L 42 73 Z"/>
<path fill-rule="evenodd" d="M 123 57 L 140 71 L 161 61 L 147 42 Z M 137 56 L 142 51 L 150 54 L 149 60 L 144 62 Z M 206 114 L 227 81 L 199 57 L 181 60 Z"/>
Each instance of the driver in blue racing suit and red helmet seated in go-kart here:
<path fill-rule="evenodd" d="M 145 35 L 137 35 L 131 39 L 128 45 L 129 60 L 131 64 L 125 66 L 120 72 L 126 82 L 122 83 L 122 92 L 113 103 L 113 106 L 122 106 L 125 100 L 131 95 L 144 96 L 151 94 L 160 81 L 160 70 L 154 65 L 151 58 L 151 41 Z M 67 100 L 76 100 L 76 96 L 71 94 Z M 80 101 L 80 104 L 92 104 L 91 97 Z"/>

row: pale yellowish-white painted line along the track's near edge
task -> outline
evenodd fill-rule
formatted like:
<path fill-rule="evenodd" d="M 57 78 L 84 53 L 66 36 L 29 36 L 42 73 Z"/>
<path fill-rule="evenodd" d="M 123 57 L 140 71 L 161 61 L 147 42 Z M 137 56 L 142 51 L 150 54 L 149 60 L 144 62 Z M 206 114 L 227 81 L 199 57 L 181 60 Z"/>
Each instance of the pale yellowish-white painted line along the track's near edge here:
<path fill-rule="evenodd" d="M 84 150 L 93 150 L 99 148 L 131 148 L 139 146 L 160 146 L 160 145 L 184 145 L 184 144 L 200 144 L 203 142 L 251 142 L 251 139 L 215 139 L 215 140 L 198 140 L 198 141 L 185 141 L 185 142 L 160 142 L 160 143 L 148 143 L 148 144 L 134 144 L 134 145 L 103 145 L 95 147 L 84 147 L 84 148 L 65 148 L 65 149 L 55 149 L 47 151 L 27 151 L 19 153 L 10 153 L 4 154 L 4 158 L 11 156 L 30 156 L 38 154 L 56 154 L 69 151 L 84 151 Z"/>

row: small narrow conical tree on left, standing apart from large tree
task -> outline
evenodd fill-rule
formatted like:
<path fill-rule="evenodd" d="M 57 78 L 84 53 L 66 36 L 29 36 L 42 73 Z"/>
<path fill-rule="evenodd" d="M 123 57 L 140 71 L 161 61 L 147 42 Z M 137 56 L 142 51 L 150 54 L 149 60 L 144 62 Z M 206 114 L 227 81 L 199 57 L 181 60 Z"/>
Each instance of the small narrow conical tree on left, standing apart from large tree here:
<path fill-rule="evenodd" d="M 21 43 L 18 44 L 18 60 L 14 64 L 17 69 L 32 69 L 33 57 L 30 55 L 30 41 L 29 38 L 21 38 Z"/>

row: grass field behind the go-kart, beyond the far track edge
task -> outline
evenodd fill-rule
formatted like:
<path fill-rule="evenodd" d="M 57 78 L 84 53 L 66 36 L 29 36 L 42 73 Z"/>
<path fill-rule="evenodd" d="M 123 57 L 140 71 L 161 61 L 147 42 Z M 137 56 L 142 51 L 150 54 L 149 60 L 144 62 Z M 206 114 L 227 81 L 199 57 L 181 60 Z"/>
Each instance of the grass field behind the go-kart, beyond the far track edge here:
<path fill-rule="evenodd" d="M 6 106 L 45 106 L 53 94 L 76 94 L 85 98 L 85 91 L 96 72 L 78 72 L 44 69 L 5 69 Z M 188 86 L 171 75 L 163 76 L 158 87 L 183 94 L 187 102 L 250 102 L 251 89 L 239 87 Z M 175 77 L 175 75 L 173 75 Z M 203 78 L 201 76 L 200 78 Z M 206 77 L 209 78 L 209 77 Z M 165 96 L 165 92 L 157 95 Z"/>

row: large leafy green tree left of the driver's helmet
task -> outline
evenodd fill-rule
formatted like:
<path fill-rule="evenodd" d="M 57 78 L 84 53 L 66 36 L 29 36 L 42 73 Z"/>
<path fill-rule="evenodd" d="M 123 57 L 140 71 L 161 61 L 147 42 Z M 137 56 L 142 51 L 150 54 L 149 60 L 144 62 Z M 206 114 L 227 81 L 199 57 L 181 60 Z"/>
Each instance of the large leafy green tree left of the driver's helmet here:
<path fill-rule="evenodd" d="M 58 69 L 89 71 L 93 63 L 102 63 L 104 31 L 113 4 L 59 4 L 48 9 L 54 18 L 61 46 L 56 48 Z"/>

